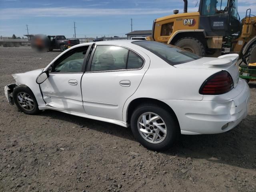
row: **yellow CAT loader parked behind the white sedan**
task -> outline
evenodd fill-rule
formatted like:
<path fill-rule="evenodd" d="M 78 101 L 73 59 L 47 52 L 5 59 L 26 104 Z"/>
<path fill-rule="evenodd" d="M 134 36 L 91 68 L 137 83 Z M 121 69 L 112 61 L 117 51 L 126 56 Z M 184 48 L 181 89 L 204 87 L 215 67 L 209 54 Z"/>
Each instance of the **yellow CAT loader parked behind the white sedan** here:
<path fill-rule="evenodd" d="M 256 16 L 251 9 L 240 21 L 238 0 L 200 0 L 198 12 L 154 20 L 150 40 L 172 44 L 199 56 L 238 53 L 246 63 L 256 63 Z"/>

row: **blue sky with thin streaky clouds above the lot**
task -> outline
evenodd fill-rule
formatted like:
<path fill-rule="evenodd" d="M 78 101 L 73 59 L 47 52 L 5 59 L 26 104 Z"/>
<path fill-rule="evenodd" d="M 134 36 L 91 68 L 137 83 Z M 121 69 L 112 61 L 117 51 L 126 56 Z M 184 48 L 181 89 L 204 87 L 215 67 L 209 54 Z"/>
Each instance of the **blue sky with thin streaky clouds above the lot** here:
<path fill-rule="evenodd" d="M 198 3 L 197 3 L 198 1 Z M 198 11 L 200 0 L 188 0 L 188 12 Z M 256 15 L 256 0 L 238 0 L 244 18 L 247 8 Z M 0 0 L 0 36 L 27 34 L 120 36 L 132 30 L 151 30 L 153 20 L 183 12 L 183 0 Z"/>

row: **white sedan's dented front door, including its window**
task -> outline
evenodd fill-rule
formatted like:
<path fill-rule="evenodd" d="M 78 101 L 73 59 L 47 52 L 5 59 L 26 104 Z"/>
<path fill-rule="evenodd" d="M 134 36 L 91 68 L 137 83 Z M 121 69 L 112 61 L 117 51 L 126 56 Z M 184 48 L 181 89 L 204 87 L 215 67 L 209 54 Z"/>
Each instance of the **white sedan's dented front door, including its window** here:
<path fill-rule="evenodd" d="M 73 48 L 54 62 L 49 77 L 40 84 L 47 106 L 84 113 L 80 82 L 89 47 Z"/>

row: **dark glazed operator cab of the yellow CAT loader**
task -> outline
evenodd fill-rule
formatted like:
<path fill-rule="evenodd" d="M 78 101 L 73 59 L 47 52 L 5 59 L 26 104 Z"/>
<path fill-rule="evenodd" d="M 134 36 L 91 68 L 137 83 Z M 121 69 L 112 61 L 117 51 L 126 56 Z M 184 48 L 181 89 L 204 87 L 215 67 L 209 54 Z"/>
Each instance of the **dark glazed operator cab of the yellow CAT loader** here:
<path fill-rule="evenodd" d="M 241 28 L 238 0 L 201 0 L 199 29 L 207 36 L 230 36 Z"/>

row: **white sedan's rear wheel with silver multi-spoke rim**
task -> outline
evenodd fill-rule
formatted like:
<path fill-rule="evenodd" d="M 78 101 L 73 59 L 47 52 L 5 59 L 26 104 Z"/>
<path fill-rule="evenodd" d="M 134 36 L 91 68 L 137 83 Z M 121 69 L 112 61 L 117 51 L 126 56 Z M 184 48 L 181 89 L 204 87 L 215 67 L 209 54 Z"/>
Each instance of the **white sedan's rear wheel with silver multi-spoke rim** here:
<path fill-rule="evenodd" d="M 160 119 L 148 122 L 150 119 L 149 113 L 151 114 L 151 118 L 158 116 Z M 142 126 L 142 124 L 145 125 L 143 121 L 144 115 L 148 123 L 146 126 Z M 149 150 L 167 150 L 172 146 L 180 134 L 180 127 L 174 114 L 156 104 L 142 104 L 138 106 L 138 108 L 136 108 L 132 113 L 130 124 L 134 137 L 140 142 L 140 144 Z M 159 129 L 158 127 L 154 126 L 156 124 L 164 125 L 158 125 L 158 127 L 161 127 L 161 129 Z M 140 130 L 142 130 L 142 132 Z M 165 133 L 161 130 L 164 130 Z M 156 133 L 158 133 L 162 138 L 156 135 Z M 155 139 L 153 137 L 154 135 L 156 135 Z"/>

